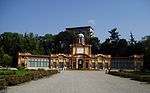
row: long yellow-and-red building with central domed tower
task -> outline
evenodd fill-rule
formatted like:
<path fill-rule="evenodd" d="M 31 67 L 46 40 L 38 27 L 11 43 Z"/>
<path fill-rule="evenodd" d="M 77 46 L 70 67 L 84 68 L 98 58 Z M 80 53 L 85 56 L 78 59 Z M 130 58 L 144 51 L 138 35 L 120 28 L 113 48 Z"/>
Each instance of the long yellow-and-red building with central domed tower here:
<path fill-rule="evenodd" d="M 81 28 L 82 29 L 82 28 Z M 84 34 L 77 35 L 76 44 L 70 45 L 71 54 L 32 55 L 18 53 L 18 65 L 27 69 L 130 69 L 143 67 L 143 56 L 111 57 L 91 53 L 91 45 L 85 44 Z"/>

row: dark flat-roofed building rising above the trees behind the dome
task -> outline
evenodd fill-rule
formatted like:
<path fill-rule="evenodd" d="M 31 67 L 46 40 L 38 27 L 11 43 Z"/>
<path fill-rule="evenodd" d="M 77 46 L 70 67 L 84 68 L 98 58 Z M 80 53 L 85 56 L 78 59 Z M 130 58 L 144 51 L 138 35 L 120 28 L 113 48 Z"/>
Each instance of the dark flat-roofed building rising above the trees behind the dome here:
<path fill-rule="evenodd" d="M 66 28 L 66 31 L 73 32 L 76 35 L 82 33 L 85 36 L 85 38 L 94 35 L 94 29 L 91 26 L 71 27 L 71 28 Z"/>

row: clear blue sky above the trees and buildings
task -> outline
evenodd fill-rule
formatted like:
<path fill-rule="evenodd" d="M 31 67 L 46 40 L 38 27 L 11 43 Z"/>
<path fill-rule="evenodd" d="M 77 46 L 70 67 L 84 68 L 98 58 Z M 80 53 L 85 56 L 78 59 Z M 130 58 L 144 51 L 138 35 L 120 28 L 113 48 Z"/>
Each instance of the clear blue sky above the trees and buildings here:
<path fill-rule="evenodd" d="M 80 26 L 91 26 L 100 42 L 113 28 L 139 41 L 150 35 L 150 0 L 0 0 L 0 34 L 43 36 Z"/>

